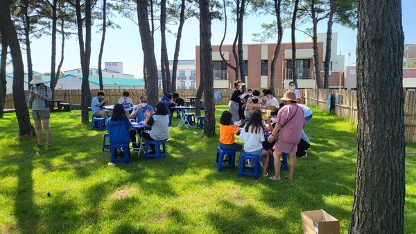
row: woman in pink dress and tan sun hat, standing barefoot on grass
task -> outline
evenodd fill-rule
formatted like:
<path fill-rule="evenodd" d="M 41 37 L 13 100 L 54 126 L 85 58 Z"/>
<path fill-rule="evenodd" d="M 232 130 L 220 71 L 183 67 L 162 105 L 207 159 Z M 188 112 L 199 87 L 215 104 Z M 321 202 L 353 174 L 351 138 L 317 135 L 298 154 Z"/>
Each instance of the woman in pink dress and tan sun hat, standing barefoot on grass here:
<path fill-rule="evenodd" d="M 273 146 L 273 157 L 275 164 L 275 176 L 270 177 L 272 180 L 280 179 L 280 156 L 284 152 L 289 154 L 291 160 L 291 168 L 289 169 L 288 179 L 293 179 L 293 173 L 297 165 L 296 151 L 297 144 L 300 141 L 302 134 L 302 128 L 306 125 L 304 113 L 302 108 L 296 105 L 296 94 L 294 91 L 286 91 L 281 100 L 286 101 L 286 105 L 279 109 L 277 113 L 277 123 L 273 128 L 272 134 L 268 137 L 268 142 L 272 143 L 277 138 L 279 132 L 279 138 L 277 143 Z"/>

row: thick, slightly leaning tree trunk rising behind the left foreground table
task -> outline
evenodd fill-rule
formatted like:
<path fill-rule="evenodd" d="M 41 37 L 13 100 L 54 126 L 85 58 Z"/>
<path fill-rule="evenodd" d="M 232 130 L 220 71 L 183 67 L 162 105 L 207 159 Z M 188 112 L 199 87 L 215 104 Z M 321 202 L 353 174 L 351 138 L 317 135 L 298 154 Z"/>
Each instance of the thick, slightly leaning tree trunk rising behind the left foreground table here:
<path fill-rule="evenodd" d="M 155 106 L 157 103 L 157 64 L 153 34 L 150 32 L 148 21 L 147 1 L 137 0 L 136 3 L 141 48 L 143 49 L 144 63 L 146 64 L 146 74 L 148 78 L 148 102 L 150 105 Z"/>

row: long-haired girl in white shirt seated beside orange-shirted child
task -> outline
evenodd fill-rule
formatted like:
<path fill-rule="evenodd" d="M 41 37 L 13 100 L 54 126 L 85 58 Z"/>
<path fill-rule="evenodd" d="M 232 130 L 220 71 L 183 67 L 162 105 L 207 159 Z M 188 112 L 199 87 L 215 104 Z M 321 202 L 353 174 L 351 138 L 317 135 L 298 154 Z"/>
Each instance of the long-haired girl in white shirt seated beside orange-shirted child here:
<path fill-rule="evenodd" d="M 263 118 L 259 111 L 254 111 L 250 116 L 248 125 L 246 125 L 240 133 L 240 140 L 244 141 L 244 150 L 248 154 L 264 156 L 263 177 L 268 176 L 267 166 L 269 161 L 269 153 L 267 150 L 263 150 L 264 141 L 264 127 Z"/>

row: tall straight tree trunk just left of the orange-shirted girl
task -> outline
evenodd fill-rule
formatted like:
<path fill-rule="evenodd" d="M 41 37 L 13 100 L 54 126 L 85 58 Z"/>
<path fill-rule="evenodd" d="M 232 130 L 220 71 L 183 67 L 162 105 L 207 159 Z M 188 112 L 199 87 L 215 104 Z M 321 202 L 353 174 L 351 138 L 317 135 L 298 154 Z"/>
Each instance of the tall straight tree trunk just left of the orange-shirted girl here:
<path fill-rule="evenodd" d="M 212 76 L 211 13 L 209 0 L 200 0 L 201 80 L 205 95 L 205 136 L 215 136 L 214 78 Z"/>

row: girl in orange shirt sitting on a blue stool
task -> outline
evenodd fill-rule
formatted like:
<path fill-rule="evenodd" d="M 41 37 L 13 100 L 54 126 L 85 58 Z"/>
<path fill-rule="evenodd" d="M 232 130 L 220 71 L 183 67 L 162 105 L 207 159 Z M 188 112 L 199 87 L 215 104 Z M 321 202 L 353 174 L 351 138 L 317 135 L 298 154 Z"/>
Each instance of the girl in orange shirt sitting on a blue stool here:
<path fill-rule="evenodd" d="M 243 145 L 236 143 L 234 135 L 240 132 L 239 123 L 232 123 L 232 114 L 224 111 L 220 118 L 220 148 L 224 150 L 233 150 L 243 152 Z M 224 156 L 224 161 L 228 160 L 228 155 Z"/>

